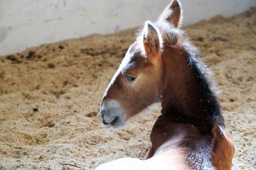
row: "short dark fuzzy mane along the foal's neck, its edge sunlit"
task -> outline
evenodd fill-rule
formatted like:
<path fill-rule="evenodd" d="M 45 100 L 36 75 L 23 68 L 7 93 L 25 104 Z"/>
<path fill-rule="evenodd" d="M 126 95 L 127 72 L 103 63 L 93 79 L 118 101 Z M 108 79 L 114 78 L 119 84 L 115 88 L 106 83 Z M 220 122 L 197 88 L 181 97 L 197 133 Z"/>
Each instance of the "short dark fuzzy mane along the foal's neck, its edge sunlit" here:
<path fill-rule="evenodd" d="M 198 48 L 191 43 L 191 40 L 181 29 L 177 29 L 166 22 L 157 23 L 157 26 L 159 32 L 161 32 L 162 38 L 167 41 L 168 45 L 179 46 L 182 48 L 182 53 L 185 54 L 188 60 L 188 65 L 195 74 L 197 82 L 199 82 L 198 85 L 200 86 L 199 89 L 202 92 L 202 97 L 204 99 L 209 99 L 209 104 L 204 108 L 209 111 L 209 115 L 205 120 L 206 124 L 210 124 L 211 127 L 214 127 L 216 124 L 224 127 L 225 125 L 221 115 L 220 104 L 216 99 L 219 90 L 216 89 L 211 69 L 200 61 L 201 54 L 198 51 Z"/>

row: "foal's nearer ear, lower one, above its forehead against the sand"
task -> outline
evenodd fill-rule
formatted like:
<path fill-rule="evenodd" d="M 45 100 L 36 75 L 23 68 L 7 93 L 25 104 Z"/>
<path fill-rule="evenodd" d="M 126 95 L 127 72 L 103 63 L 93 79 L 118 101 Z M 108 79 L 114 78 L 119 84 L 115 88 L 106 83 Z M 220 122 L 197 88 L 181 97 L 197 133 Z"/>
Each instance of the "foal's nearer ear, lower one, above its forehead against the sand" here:
<path fill-rule="evenodd" d="M 156 28 L 150 22 L 146 22 L 143 29 L 143 46 L 146 55 L 153 56 L 160 50 L 160 41 Z"/>

